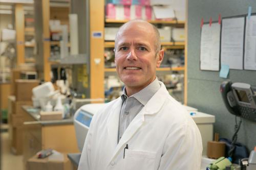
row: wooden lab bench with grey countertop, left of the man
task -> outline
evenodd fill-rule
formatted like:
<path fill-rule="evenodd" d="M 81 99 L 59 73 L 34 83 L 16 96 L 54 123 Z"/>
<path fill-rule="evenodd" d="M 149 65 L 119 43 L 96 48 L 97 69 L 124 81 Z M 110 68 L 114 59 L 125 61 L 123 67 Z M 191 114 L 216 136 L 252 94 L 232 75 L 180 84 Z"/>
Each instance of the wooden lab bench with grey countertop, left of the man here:
<path fill-rule="evenodd" d="M 78 153 L 73 117 L 61 120 L 40 120 L 40 109 L 22 106 L 27 113 L 23 125 L 24 169 L 27 160 L 43 149 L 61 153 Z"/>

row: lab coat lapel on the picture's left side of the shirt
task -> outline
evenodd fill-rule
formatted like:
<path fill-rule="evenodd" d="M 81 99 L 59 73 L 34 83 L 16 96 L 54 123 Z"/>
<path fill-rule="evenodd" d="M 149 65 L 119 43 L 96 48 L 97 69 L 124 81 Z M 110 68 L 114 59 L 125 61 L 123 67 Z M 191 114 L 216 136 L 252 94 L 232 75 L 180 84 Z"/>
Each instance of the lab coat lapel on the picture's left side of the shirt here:
<path fill-rule="evenodd" d="M 110 147 L 113 152 L 117 146 L 118 126 L 119 126 L 119 116 L 120 116 L 121 105 L 122 105 L 122 100 L 121 98 L 119 98 L 117 99 L 116 103 L 113 105 L 112 109 L 110 110 L 110 116 L 108 118 L 108 123 L 107 123 L 108 135 L 111 143 Z"/>

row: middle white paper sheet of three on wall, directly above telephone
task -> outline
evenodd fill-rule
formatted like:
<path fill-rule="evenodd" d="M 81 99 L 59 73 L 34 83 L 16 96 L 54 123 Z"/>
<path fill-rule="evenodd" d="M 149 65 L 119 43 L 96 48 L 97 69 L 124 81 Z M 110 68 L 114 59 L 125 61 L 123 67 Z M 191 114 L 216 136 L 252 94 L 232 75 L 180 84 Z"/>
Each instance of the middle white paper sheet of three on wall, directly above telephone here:
<path fill-rule="evenodd" d="M 221 64 L 230 69 L 243 69 L 245 18 L 222 19 Z"/>

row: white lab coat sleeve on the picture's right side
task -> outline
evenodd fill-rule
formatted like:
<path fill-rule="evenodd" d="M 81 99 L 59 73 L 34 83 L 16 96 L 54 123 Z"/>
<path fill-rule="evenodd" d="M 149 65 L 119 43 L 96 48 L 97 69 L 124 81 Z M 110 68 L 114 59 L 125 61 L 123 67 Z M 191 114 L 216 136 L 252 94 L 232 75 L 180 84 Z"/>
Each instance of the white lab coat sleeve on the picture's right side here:
<path fill-rule="evenodd" d="M 202 138 L 193 120 L 172 129 L 164 144 L 158 170 L 199 170 L 202 157 Z"/>

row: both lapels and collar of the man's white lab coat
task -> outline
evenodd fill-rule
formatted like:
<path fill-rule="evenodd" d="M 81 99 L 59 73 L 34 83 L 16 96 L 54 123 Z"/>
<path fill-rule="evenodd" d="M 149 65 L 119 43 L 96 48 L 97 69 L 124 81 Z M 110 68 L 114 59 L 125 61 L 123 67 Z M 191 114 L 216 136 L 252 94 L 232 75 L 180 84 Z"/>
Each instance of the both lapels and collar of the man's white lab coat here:
<path fill-rule="evenodd" d="M 118 124 L 119 124 L 119 115 L 120 109 L 122 105 L 121 98 L 117 99 L 118 101 L 114 104 L 111 109 L 111 115 L 108 120 L 108 132 L 110 135 L 111 143 L 113 143 L 112 147 L 114 150 L 112 157 L 109 161 L 113 161 L 116 156 L 118 155 L 120 150 L 123 150 L 127 142 L 132 138 L 132 136 L 138 131 L 141 125 L 144 123 L 144 116 L 148 114 L 155 114 L 157 113 L 164 104 L 168 94 L 168 91 L 165 88 L 165 85 L 162 82 L 159 82 L 161 87 L 160 89 L 153 95 L 150 101 L 143 107 L 143 109 L 136 115 L 136 117 L 132 120 L 131 124 L 127 127 L 120 139 L 119 143 L 117 144 L 117 137 L 118 137 Z"/>

